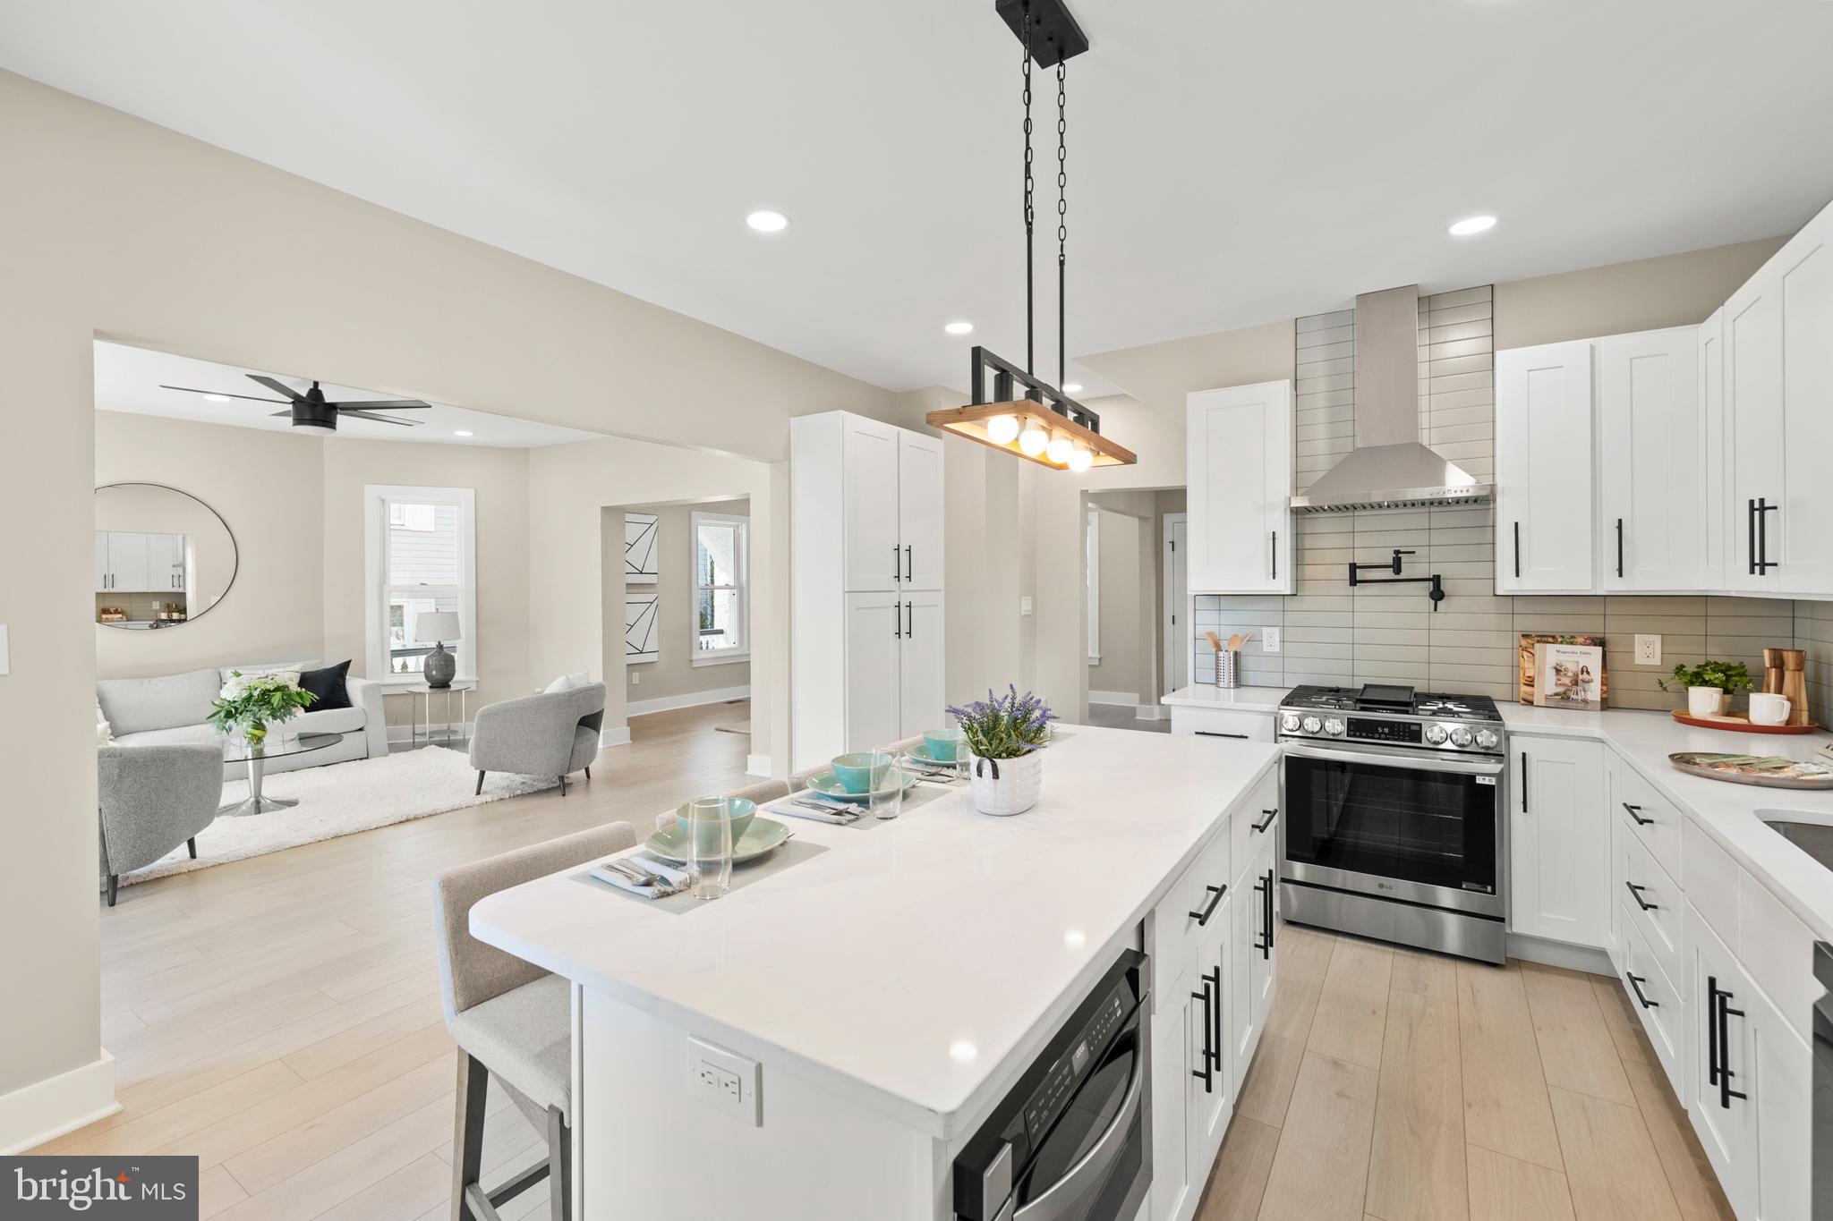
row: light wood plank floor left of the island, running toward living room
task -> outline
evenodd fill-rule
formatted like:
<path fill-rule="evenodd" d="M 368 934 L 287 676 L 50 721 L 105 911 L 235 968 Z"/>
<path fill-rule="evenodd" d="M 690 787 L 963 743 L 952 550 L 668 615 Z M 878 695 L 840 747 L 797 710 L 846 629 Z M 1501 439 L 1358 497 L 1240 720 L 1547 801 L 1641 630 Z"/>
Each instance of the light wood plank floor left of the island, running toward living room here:
<path fill-rule="evenodd" d="M 744 780 L 748 703 L 631 719 L 592 780 L 121 890 L 103 908 L 103 1045 L 119 1115 L 35 1150 L 194 1153 L 202 1216 L 449 1216 L 456 1062 L 440 1010 L 431 879 Z M 484 1181 L 544 1153 L 513 1106 Z M 546 1184 L 506 1217 L 546 1216 Z"/>

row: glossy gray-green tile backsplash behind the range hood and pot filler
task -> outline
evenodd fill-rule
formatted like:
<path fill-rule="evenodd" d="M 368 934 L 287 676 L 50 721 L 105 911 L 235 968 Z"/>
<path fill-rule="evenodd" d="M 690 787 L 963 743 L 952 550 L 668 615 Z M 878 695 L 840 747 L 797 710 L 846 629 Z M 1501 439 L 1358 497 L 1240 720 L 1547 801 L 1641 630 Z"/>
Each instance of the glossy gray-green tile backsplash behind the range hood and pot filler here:
<path fill-rule="evenodd" d="M 1355 313 L 1298 320 L 1296 476 L 1300 487 L 1355 445 Z M 1421 298 L 1421 439 L 1479 480 L 1494 470 L 1494 361 L 1490 289 Z M 1743 661 L 1762 679 L 1763 648 L 1809 650 L 1817 719 L 1833 719 L 1833 602 L 1732 597 L 1498 597 L 1494 509 L 1386 509 L 1303 514 L 1294 520 L 1296 593 L 1199 595 L 1191 677 L 1213 683 L 1204 632 L 1254 633 L 1243 650 L 1243 683 L 1358 685 L 1402 681 L 1421 688 L 1518 697 L 1523 632 L 1606 639 L 1609 703 L 1674 708 L 1685 697 L 1655 679 L 1675 663 Z M 1444 578 L 1432 610 L 1426 586 L 1349 588 L 1349 562 L 1386 564 L 1395 549 L 1406 577 Z M 1281 652 L 1263 652 L 1261 632 L 1279 628 Z M 1635 635 L 1659 635 L 1659 666 L 1637 666 Z"/>

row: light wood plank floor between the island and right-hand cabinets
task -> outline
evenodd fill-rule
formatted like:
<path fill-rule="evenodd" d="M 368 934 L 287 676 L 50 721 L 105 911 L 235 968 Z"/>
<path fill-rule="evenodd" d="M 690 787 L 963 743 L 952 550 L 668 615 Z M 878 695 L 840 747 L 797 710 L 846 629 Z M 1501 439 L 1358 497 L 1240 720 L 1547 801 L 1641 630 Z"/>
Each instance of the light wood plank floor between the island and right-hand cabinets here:
<path fill-rule="evenodd" d="M 1732 1221 L 1615 979 L 1283 952 L 1197 1221 Z"/>

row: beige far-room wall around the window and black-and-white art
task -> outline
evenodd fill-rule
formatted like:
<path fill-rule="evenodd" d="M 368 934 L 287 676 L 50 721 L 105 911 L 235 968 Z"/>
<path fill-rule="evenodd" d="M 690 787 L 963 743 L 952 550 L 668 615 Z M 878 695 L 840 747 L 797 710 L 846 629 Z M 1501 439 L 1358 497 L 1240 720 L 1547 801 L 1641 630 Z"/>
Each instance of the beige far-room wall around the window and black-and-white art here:
<path fill-rule="evenodd" d="M 647 586 L 627 586 L 623 578 L 623 514 L 653 513 L 658 531 L 658 573 L 656 582 Z M 693 514 L 722 513 L 726 516 L 752 516 L 750 500 L 708 500 L 693 505 L 620 505 L 605 509 L 601 514 L 601 566 L 605 573 L 605 639 L 603 655 L 616 657 L 623 650 L 623 606 L 625 593 L 658 595 L 656 615 L 660 628 L 660 650 L 654 661 L 625 665 L 623 697 L 627 703 L 649 703 L 653 699 L 678 699 L 709 690 L 728 690 L 752 685 L 752 665 L 748 661 L 728 661 L 720 665 L 693 665 L 695 622 L 695 573 L 693 573 Z M 764 608 L 750 610 L 746 632 L 755 633 L 759 613 Z M 764 619 L 768 622 L 768 617 Z M 642 679 L 642 681 L 638 681 Z M 686 707 L 686 705 L 682 705 Z"/>

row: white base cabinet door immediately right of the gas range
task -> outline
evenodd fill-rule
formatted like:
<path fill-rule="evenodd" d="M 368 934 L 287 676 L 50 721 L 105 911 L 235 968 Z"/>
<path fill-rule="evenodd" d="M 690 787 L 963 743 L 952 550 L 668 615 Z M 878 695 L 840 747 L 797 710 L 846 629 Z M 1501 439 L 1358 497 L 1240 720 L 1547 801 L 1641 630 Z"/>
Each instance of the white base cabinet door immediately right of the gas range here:
<path fill-rule="evenodd" d="M 1509 930 L 1604 948 L 1613 902 L 1604 743 L 1520 736 L 1510 745 Z"/>

